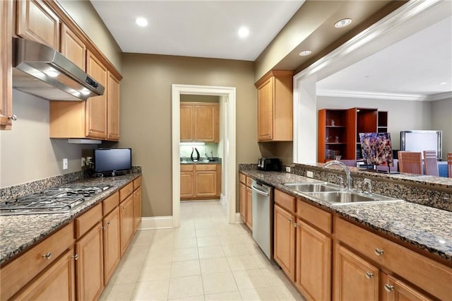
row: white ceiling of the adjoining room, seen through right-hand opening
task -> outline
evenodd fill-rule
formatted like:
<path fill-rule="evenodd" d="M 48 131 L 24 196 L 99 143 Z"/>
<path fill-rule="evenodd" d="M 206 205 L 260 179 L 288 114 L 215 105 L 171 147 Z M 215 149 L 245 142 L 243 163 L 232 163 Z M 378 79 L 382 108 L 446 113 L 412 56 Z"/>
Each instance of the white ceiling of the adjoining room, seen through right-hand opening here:
<path fill-rule="evenodd" d="M 328 76 L 317 83 L 317 90 L 327 95 L 387 94 L 412 100 L 434 100 L 434 95 L 451 92 L 452 17 Z"/>

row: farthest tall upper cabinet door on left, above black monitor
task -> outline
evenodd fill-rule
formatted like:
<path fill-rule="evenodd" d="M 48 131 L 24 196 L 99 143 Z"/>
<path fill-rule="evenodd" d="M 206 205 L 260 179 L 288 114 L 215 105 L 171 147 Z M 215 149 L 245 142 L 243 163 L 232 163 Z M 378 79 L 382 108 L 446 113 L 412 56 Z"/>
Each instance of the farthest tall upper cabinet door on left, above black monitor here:
<path fill-rule="evenodd" d="M 108 73 L 107 139 L 119 140 L 119 80 Z"/>

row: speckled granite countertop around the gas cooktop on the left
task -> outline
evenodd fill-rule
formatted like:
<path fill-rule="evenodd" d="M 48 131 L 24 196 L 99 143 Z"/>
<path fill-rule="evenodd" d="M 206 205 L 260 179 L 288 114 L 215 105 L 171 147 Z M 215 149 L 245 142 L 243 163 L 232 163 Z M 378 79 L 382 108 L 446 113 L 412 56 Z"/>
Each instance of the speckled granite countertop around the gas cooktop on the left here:
<path fill-rule="evenodd" d="M 18 254 L 21 254 L 33 244 L 40 242 L 44 237 L 66 225 L 76 216 L 88 211 L 88 209 L 123 187 L 124 184 L 133 181 L 140 175 L 132 173 L 119 177 L 85 178 L 66 184 L 112 186 L 101 194 L 97 194 L 95 197 L 85 201 L 83 205 L 69 213 L 0 216 L 0 265 L 18 256 Z M 61 187 L 66 185 L 61 185 Z"/>

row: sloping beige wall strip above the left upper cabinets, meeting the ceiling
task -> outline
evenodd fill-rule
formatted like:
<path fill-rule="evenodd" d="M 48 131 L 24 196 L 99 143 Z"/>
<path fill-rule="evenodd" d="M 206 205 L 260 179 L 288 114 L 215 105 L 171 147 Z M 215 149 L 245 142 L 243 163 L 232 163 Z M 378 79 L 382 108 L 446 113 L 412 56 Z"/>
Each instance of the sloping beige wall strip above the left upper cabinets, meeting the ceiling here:
<path fill-rule="evenodd" d="M 121 49 L 90 1 L 57 0 L 97 48 L 121 72 Z"/>

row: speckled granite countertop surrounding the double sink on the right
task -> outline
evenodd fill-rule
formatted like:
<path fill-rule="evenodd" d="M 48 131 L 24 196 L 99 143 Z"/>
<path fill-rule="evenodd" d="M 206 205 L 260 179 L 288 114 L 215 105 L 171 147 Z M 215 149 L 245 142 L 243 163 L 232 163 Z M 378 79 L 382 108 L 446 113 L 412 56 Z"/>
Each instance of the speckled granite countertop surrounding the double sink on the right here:
<path fill-rule="evenodd" d="M 288 194 L 302 196 L 305 200 L 328 211 L 355 220 L 378 232 L 394 237 L 396 240 L 408 243 L 418 249 L 427 250 L 447 261 L 452 261 L 452 212 L 450 211 L 410 201 L 335 206 L 326 201 L 301 194 L 284 185 L 284 183 L 289 182 L 319 181 L 317 179 L 287 172 L 262 172 L 252 169 L 239 171 Z"/>

